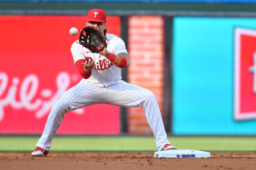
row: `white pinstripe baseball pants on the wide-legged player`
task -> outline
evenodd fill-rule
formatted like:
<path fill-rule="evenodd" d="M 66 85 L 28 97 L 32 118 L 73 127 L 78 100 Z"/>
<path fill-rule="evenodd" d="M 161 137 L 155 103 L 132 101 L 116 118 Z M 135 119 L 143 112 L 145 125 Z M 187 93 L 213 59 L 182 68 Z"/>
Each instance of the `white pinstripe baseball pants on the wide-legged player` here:
<path fill-rule="evenodd" d="M 157 150 L 160 151 L 164 144 L 170 144 L 164 130 L 162 116 L 155 95 L 147 89 L 120 80 L 119 84 L 106 88 L 86 82 L 80 82 L 70 88 L 52 107 L 44 132 L 36 146 L 49 151 L 52 137 L 60 127 L 63 117 L 67 112 L 99 103 L 124 107 L 142 107 L 148 124 L 154 132 Z"/>

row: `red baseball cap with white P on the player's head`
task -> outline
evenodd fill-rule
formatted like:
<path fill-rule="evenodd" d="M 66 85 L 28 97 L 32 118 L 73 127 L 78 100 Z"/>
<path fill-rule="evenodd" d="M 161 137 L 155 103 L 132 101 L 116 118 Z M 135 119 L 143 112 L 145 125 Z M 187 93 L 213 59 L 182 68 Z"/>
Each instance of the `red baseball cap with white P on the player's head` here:
<path fill-rule="evenodd" d="M 87 21 L 107 22 L 107 15 L 101 9 L 91 9 L 87 15 Z"/>

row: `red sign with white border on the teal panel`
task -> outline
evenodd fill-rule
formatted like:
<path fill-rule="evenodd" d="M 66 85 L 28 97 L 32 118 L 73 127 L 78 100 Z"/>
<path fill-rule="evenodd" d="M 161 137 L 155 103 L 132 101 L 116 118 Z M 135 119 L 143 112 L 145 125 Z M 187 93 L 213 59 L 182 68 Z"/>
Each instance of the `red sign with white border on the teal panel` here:
<path fill-rule="evenodd" d="M 256 30 L 235 28 L 235 120 L 256 119 Z"/>

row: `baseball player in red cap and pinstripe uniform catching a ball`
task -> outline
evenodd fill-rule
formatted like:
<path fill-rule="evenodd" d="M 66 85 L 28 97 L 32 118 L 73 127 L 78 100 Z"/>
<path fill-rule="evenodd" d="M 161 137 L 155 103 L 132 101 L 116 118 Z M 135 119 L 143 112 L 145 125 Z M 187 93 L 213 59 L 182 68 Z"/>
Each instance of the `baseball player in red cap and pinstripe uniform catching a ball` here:
<path fill-rule="evenodd" d="M 83 79 L 65 92 L 48 116 L 44 132 L 31 156 L 46 156 L 49 153 L 52 137 L 60 127 L 63 117 L 71 110 L 105 103 L 124 107 L 142 107 L 148 124 L 154 132 L 158 151 L 177 149 L 167 139 L 162 116 L 155 95 L 138 85 L 121 80 L 121 68 L 129 67 L 129 55 L 124 41 L 107 33 L 107 15 L 101 9 L 88 12 L 87 26 L 95 26 L 104 34 L 107 48 L 92 53 L 78 41 L 71 46 L 74 65 Z"/>

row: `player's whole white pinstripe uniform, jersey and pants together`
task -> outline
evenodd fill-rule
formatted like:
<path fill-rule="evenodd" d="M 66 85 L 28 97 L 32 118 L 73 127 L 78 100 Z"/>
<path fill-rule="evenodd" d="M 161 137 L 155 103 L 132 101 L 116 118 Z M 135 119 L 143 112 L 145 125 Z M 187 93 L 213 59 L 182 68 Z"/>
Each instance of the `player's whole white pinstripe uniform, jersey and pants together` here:
<path fill-rule="evenodd" d="M 127 53 L 119 37 L 107 34 L 108 51 L 113 54 Z M 52 107 L 44 132 L 36 146 L 50 150 L 52 137 L 60 127 L 63 117 L 71 110 L 105 103 L 124 107 L 142 107 L 148 124 L 154 132 L 156 147 L 160 151 L 164 144 L 170 144 L 164 130 L 162 116 L 155 95 L 147 89 L 121 80 L 121 69 L 111 65 L 106 57 L 91 53 L 77 42 L 71 47 L 74 62 L 85 57 L 95 61 L 92 76 L 82 79 L 76 86 L 65 92 Z"/>

